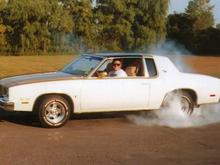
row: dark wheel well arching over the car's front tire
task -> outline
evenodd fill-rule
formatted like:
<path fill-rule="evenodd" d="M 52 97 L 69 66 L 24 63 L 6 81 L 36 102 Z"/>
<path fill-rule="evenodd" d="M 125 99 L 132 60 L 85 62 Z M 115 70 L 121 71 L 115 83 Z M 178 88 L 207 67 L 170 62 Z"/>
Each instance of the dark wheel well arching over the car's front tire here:
<path fill-rule="evenodd" d="M 38 111 L 38 106 L 40 104 L 40 102 L 46 97 L 46 96 L 51 96 L 51 95 L 58 95 L 58 96 L 61 96 L 63 97 L 64 99 L 66 99 L 66 101 L 69 103 L 70 105 L 70 108 L 71 108 L 71 112 L 73 113 L 74 112 L 74 104 L 73 104 L 73 100 L 71 99 L 70 96 L 66 95 L 66 94 L 58 94 L 58 93 L 50 93 L 50 94 L 44 94 L 44 95 L 41 95 L 39 96 L 35 102 L 34 102 L 34 106 L 33 106 L 33 112 L 36 113 Z"/>

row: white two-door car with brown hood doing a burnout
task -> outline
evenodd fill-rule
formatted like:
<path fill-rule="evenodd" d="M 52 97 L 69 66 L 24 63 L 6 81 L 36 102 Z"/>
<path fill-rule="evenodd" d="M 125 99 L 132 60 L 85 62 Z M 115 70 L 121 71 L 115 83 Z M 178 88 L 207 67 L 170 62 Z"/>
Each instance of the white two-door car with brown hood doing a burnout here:
<path fill-rule="evenodd" d="M 112 61 L 127 77 L 109 77 Z M 0 107 L 37 113 L 45 127 L 64 125 L 72 113 L 160 109 L 179 93 L 188 114 L 220 101 L 220 80 L 181 73 L 167 58 L 141 53 L 85 54 L 58 72 L 0 80 Z"/>

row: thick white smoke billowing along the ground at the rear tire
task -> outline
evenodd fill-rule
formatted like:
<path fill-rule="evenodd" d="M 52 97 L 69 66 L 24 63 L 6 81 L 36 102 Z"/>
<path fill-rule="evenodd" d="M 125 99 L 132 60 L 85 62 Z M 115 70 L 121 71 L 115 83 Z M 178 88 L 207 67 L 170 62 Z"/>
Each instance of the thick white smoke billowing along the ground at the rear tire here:
<path fill-rule="evenodd" d="M 220 105 L 206 105 L 195 108 L 191 115 L 184 112 L 180 97 L 173 96 L 169 106 L 160 110 L 142 112 L 140 115 L 130 115 L 127 118 L 142 126 L 167 126 L 171 128 L 200 127 L 220 122 Z"/>

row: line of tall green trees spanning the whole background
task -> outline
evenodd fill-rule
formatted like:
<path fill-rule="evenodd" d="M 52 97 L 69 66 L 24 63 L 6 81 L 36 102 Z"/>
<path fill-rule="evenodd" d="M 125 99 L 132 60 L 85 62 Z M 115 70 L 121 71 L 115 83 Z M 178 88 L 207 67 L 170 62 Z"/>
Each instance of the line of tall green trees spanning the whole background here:
<path fill-rule="evenodd" d="M 169 0 L 0 0 L 0 52 L 141 51 L 166 40 L 220 52 L 209 0 L 168 9 Z"/>

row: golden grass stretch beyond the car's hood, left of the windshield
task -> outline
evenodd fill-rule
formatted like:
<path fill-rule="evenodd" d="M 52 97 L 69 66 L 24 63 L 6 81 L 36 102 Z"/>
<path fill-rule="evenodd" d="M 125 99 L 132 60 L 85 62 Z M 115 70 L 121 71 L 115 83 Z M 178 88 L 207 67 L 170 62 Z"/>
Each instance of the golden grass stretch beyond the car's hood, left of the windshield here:
<path fill-rule="evenodd" d="M 1 56 L 0 78 L 26 73 L 56 71 L 74 56 Z"/>

